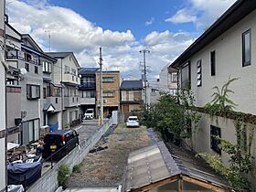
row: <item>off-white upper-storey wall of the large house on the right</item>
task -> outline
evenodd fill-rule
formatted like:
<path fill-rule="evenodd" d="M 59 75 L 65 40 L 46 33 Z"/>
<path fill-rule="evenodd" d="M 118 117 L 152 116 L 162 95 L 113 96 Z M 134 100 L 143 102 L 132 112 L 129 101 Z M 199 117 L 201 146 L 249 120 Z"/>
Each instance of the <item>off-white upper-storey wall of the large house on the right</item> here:
<path fill-rule="evenodd" d="M 242 33 L 251 29 L 251 65 L 242 67 Z M 210 75 L 210 51 L 216 51 L 216 75 Z M 202 86 L 197 87 L 197 60 L 202 59 Z M 256 114 L 256 11 L 246 16 L 226 33 L 199 51 L 191 60 L 191 88 L 197 106 L 211 101 L 212 87 L 240 78 L 230 84 L 230 99 L 238 104 L 237 111 Z"/>

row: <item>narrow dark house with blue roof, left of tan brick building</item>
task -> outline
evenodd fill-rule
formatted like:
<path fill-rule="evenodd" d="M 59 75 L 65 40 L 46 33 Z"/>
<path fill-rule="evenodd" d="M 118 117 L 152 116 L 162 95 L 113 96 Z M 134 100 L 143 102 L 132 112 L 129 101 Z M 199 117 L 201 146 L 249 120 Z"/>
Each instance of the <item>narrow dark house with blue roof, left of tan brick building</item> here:
<path fill-rule="evenodd" d="M 87 109 L 96 112 L 96 72 L 99 68 L 80 68 L 80 112 L 84 114 Z"/>

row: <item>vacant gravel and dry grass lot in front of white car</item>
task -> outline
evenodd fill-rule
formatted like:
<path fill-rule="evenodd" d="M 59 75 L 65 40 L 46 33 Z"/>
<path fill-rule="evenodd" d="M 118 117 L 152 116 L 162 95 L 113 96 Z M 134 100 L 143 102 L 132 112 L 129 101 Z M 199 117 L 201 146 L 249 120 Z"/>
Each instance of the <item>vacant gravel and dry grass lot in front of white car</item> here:
<path fill-rule="evenodd" d="M 69 188 L 118 187 L 122 184 L 129 153 L 151 144 L 145 127 L 126 128 L 124 123 L 103 141 L 101 139 L 97 146 L 108 148 L 86 156 L 80 173 L 70 176 Z"/>

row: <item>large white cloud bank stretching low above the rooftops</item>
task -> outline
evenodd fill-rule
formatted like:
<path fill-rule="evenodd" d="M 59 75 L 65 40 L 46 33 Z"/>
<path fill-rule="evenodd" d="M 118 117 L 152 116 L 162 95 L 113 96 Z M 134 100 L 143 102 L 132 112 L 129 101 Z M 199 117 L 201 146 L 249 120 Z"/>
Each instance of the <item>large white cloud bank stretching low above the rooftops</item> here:
<path fill-rule="evenodd" d="M 11 0 L 9 0 L 11 1 Z M 29 33 L 48 51 L 48 34 L 52 51 L 74 51 L 82 67 L 95 67 L 102 47 L 103 69 L 119 69 L 125 78 L 140 77 L 140 49 L 149 48 L 149 78 L 155 78 L 166 63 L 181 53 L 193 37 L 186 32 L 152 32 L 142 41 L 131 30 L 103 30 L 69 8 L 50 5 L 48 0 L 16 1 L 8 4 L 9 21 L 20 33 Z M 47 32 L 46 32 L 47 31 Z"/>

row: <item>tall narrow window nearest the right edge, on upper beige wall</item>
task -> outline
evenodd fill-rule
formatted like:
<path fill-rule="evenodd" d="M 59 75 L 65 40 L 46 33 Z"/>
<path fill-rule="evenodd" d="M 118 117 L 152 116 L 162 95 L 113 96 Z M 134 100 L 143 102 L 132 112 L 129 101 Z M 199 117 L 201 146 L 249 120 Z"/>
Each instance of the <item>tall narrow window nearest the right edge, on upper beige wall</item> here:
<path fill-rule="evenodd" d="M 251 29 L 242 34 L 242 67 L 251 65 Z"/>

